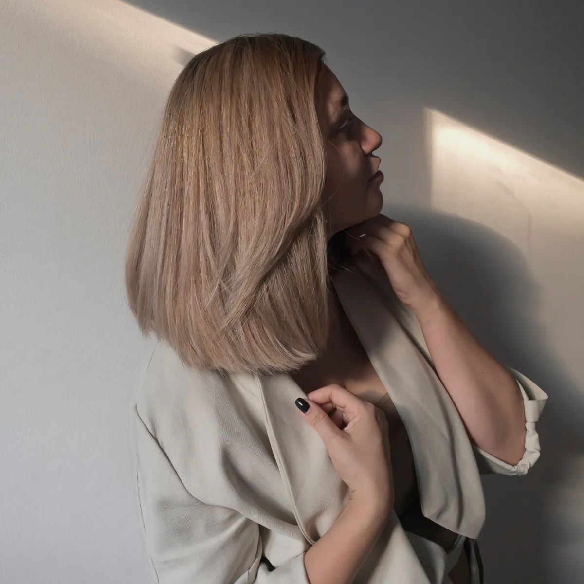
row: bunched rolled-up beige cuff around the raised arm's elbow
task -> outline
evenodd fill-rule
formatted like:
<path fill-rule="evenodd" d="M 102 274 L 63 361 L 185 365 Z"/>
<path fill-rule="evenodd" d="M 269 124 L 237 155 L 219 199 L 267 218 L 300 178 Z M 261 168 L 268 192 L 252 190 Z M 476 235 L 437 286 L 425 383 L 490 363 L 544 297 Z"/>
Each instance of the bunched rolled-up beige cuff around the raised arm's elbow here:
<path fill-rule="evenodd" d="M 523 406 L 525 408 L 525 450 L 523 457 L 516 465 L 507 464 L 499 458 L 479 449 L 478 446 L 472 446 L 477 459 L 477 464 L 481 474 L 505 474 L 505 475 L 524 475 L 540 457 L 540 437 L 536 430 L 536 422 L 540 419 L 541 412 L 544 409 L 547 394 L 541 390 L 529 378 L 524 376 L 515 369 L 507 368 L 515 377 L 521 395 L 523 396 Z"/>

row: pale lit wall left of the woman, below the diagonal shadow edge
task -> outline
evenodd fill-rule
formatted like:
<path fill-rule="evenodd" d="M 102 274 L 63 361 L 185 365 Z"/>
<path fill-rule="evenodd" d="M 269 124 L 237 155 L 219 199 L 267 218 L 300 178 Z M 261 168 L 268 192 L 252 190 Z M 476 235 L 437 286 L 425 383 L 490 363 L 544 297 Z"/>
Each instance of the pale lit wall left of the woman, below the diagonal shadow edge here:
<path fill-rule="evenodd" d="M 123 257 L 176 46 L 201 42 L 119 2 L 2 5 L 2 584 L 147 581 Z"/>

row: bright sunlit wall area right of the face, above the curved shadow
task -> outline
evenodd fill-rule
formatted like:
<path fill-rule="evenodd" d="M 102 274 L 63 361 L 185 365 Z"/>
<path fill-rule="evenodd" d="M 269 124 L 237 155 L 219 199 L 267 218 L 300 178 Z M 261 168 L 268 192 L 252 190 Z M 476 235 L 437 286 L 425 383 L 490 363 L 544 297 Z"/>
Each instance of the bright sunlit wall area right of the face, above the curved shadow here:
<path fill-rule="evenodd" d="M 524 262 L 517 270 L 527 268 L 527 288 L 537 290 L 531 317 L 545 331 L 545 339 L 526 342 L 553 349 L 573 386 L 584 387 L 584 180 L 436 110 L 425 120 L 433 210 L 515 244 Z M 514 288 L 521 282 L 500 285 L 511 296 L 528 292 Z"/>

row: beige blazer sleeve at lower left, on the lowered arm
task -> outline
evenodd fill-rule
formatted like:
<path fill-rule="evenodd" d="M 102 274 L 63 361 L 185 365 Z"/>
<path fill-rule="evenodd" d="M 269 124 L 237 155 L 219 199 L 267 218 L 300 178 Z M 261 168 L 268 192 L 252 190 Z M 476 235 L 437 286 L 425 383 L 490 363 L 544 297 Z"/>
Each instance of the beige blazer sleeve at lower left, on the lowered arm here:
<path fill-rule="evenodd" d="M 304 554 L 273 568 L 259 525 L 234 509 L 194 498 L 131 408 L 134 492 L 154 584 L 310 584 Z"/>

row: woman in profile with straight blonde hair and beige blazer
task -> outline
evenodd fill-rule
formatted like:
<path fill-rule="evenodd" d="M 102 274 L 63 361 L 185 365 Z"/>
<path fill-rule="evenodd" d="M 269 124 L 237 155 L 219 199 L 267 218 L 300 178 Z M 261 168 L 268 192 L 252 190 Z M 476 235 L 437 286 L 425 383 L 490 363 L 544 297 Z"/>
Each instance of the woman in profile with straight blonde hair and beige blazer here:
<path fill-rule="evenodd" d="M 482 582 L 479 471 L 540 454 L 547 395 L 380 214 L 381 136 L 323 58 L 235 37 L 169 95 L 126 266 L 159 339 L 131 408 L 159 584 Z"/>

